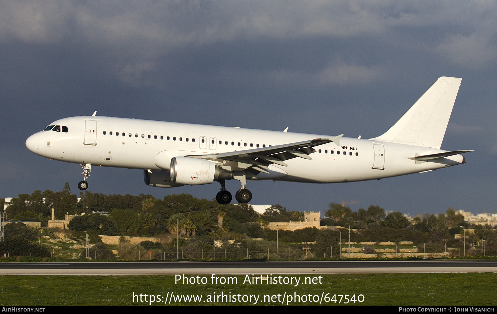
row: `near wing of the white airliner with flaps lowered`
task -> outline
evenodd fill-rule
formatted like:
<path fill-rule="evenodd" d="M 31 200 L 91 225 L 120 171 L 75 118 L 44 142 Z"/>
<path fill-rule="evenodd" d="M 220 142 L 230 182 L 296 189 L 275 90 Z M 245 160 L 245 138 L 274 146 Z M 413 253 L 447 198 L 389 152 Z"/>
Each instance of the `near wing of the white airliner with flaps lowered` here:
<path fill-rule="evenodd" d="M 210 159 L 218 163 L 226 170 L 241 171 L 244 169 L 253 169 L 258 172 L 269 173 L 268 165 L 275 163 L 281 166 L 287 166 L 285 160 L 295 157 L 312 159 L 309 155 L 315 153 L 315 146 L 334 142 L 339 145 L 340 138 L 343 134 L 331 139 L 313 139 L 309 141 L 261 147 L 251 150 L 227 152 L 210 155 L 190 155 L 201 159 Z"/>

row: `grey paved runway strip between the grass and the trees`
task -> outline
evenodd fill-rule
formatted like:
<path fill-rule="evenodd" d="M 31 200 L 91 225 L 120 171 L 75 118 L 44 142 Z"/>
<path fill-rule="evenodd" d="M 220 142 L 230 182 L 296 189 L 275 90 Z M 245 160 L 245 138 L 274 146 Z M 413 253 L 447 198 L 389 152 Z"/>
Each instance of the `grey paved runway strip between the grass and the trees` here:
<path fill-rule="evenodd" d="M 0 275 L 357 274 L 497 272 L 494 260 L 0 263 Z"/>

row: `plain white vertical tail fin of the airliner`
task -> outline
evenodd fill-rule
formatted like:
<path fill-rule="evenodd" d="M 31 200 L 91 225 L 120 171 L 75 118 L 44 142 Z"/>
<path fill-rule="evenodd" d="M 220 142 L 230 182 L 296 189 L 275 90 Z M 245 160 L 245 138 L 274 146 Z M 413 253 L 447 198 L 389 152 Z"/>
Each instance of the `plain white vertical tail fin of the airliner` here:
<path fill-rule="evenodd" d="M 371 140 L 439 149 L 461 80 L 437 79 L 390 130 Z"/>

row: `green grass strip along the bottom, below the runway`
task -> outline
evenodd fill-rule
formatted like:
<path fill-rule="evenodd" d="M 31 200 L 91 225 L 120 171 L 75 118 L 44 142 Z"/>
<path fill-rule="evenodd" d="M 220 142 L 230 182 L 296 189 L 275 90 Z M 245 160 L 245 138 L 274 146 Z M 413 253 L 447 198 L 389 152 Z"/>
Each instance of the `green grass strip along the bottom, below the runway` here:
<path fill-rule="evenodd" d="M 257 275 L 257 274 L 255 274 Z M 260 275 L 260 274 L 258 274 Z M 187 275 L 191 277 L 194 275 Z M 221 275 L 227 277 L 227 275 Z M 248 302 L 203 302 L 207 295 L 259 295 L 257 305 L 279 305 L 264 302 L 264 295 L 364 295 L 364 302 L 355 305 L 495 305 L 497 274 L 338 274 L 321 275 L 323 284 L 243 284 L 245 276 L 237 276 L 238 284 L 175 284 L 174 276 L 1 276 L 0 295 L 4 305 L 145 305 L 133 303 L 132 294 L 202 295 L 202 302 L 174 302 L 171 305 L 249 305 Z M 314 276 L 319 276 L 316 274 Z M 312 276 L 311 276 L 312 277 Z M 276 297 L 277 298 L 277 297 Z M 338 300 L 340 297 L 337 297 Z M 142 300 L 144 298 L 142 297 Z M 280 299 L 281 300 L 281 299 Z M 286 300 L 286 299 L 285 299 Z M 225 300 L 226 301 L 226 300 Z M 342 300 L 342 304 L 345 300 Z M 253 303 L 253 300 L 252 300 Z M 286 302 L 285 302 L 286 303 Z M 153 303 L 164 305 L 161 302 Z M 291 302 L 291 305 L 316 305 L 314 302 Z M 333 305 L 333 302 L 323 304 Z M 338 302 L 336 303 L 338 305 Z M 353 303 L 349 303 L 353 305 Z"/>

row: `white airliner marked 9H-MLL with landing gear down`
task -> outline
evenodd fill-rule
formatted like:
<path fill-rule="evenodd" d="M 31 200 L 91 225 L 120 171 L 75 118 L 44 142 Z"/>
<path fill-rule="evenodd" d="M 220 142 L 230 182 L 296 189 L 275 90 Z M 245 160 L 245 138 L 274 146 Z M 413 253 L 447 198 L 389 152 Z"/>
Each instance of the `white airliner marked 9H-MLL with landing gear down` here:
<path fill-rule="evenodd" d="M 144 169 L 156 187 L 218 181 L 216 199 L 228 204 L 225 180 L 241 188 L 236 200 L 252 198 L 248 180 L 337 183 L 393 177 L 464 163 L 440 150 L 461 79 L 441 77 L 385 134 L 372 138 L 264 131 L 96 116 L 64 118 L 31 135 L 33 153 L 80 163 L 88 187 L 91 166 Z M 312 157 L 311 157 L 312 155 Z"/>

